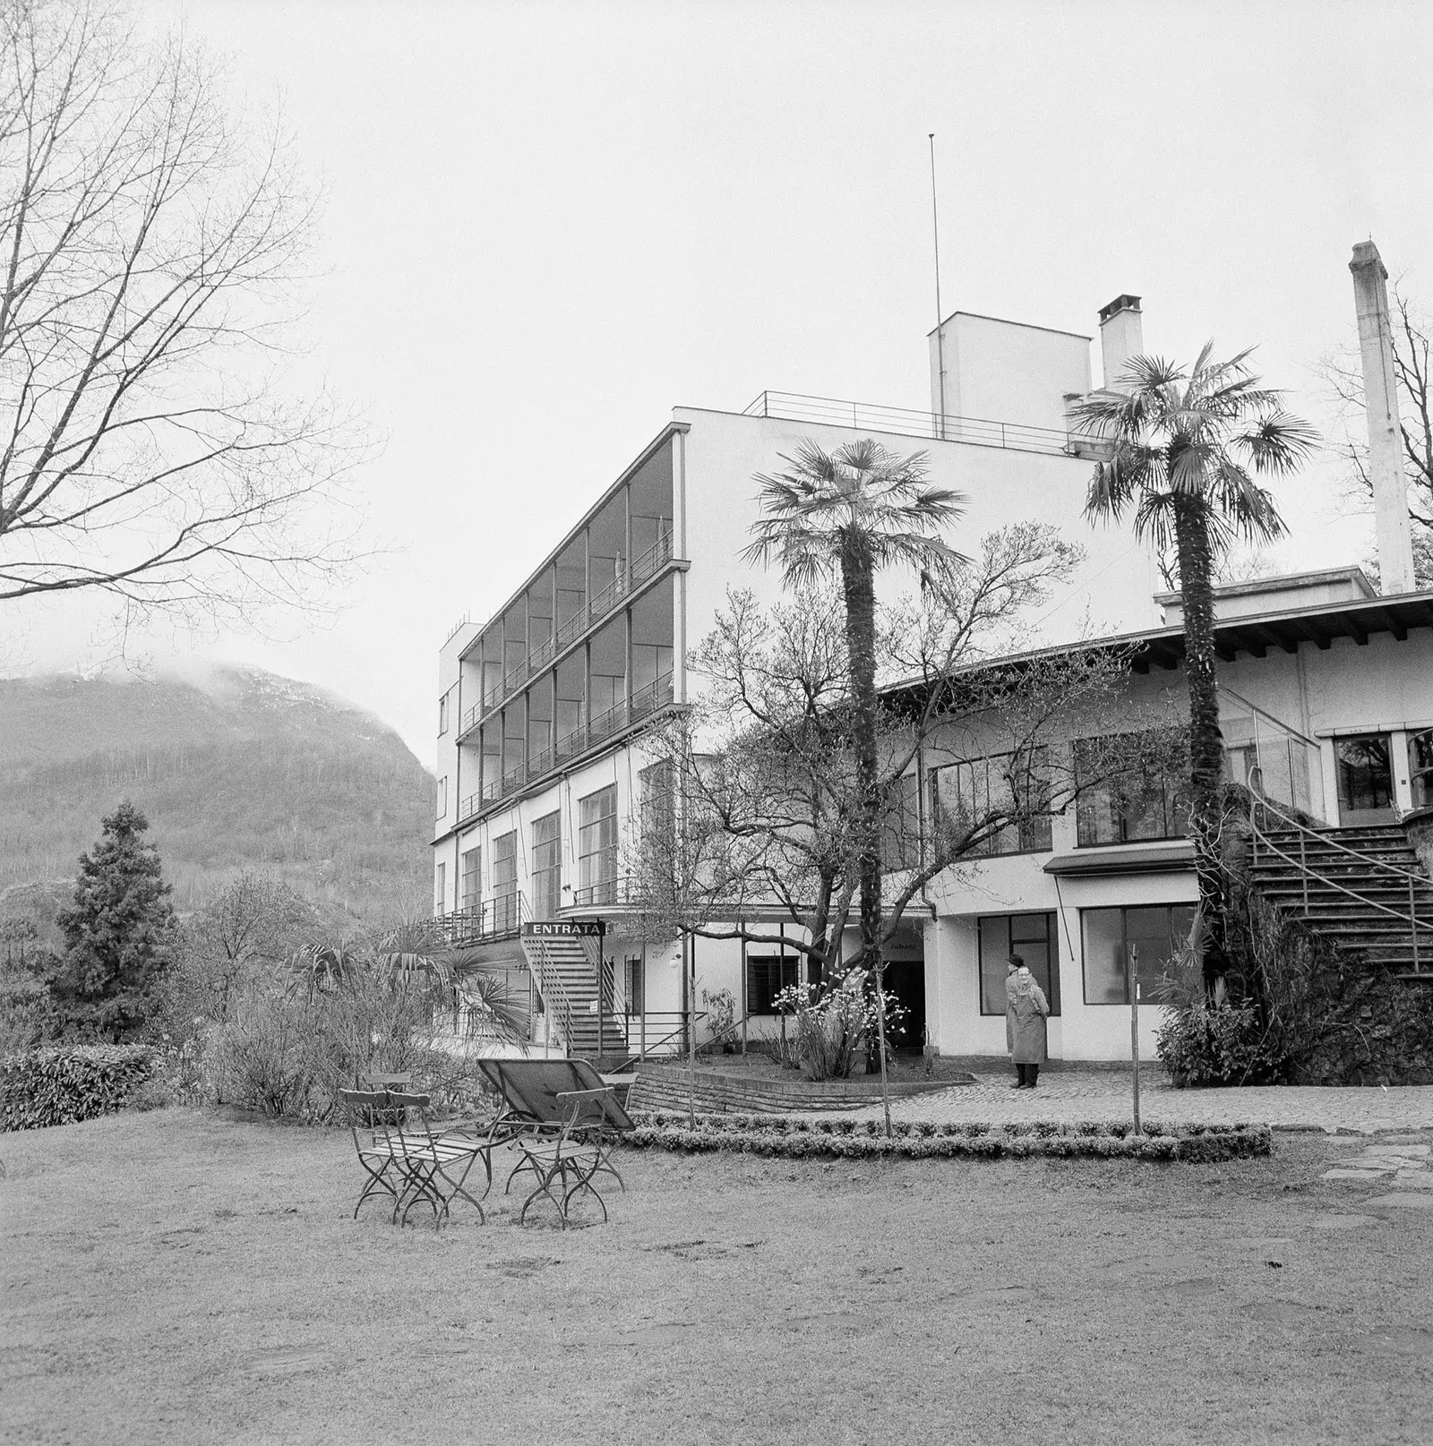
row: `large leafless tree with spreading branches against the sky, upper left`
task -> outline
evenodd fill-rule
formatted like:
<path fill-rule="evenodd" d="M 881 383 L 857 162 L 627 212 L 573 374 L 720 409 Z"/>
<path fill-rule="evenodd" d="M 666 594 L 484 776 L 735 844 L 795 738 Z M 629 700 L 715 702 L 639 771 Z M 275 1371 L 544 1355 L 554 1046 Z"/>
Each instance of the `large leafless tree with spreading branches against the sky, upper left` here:
<path fill-rule="evenodd" d="M 179 39 L 0 0 L 0 602 L 315 602 L 362 429 L 279 386 L 314 204 Z"/>

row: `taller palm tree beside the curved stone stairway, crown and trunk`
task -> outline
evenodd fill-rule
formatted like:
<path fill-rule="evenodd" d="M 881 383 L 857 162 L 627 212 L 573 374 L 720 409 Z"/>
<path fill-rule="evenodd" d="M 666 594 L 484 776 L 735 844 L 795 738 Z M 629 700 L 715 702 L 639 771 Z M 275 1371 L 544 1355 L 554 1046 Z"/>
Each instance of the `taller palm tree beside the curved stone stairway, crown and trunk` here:
<path fill-rule="evenodd" d="M 1179 560 L 1189 681 L 1189 804 L 1199 879 L 1200 954 L 1213 988 L 1228 972 L 1225 889 L 1219 862 L 1219 781 L 1223 736 L 1215 690 L 1213 571 L 1235 539 L 1270 542 L 1284 532 L 1272 496 L 1254 476 L 1294 471 L 1317 444 L 1307 422 L 1262 386 L 1249 351 L 1194 366 L 1131 357 L 1112 389 L 1073 411 L 1077 422 L 1113 442 L 1095 467 L 1085 513 L 1090 521 L 1134 515 L 1135 536 Z"/>

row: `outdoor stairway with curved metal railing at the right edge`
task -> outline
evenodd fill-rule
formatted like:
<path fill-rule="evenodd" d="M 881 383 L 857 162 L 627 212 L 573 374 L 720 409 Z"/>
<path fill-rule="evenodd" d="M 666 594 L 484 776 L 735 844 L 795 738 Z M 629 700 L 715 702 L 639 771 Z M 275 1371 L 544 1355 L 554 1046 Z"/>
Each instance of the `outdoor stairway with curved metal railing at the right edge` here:
<path fill-rule="evenodd" d="M 1254 885 L 1326 938 L 1387 964 L 1403 979 L 1433 983 L 1433 881 L 1397 824 L 1307 833 L 1265 829 L 1255 839 Z M 1423 925 L 1417 950 L 1410 902 Z M 1374 907 L 1379 904 L 1400 917 Z"/>

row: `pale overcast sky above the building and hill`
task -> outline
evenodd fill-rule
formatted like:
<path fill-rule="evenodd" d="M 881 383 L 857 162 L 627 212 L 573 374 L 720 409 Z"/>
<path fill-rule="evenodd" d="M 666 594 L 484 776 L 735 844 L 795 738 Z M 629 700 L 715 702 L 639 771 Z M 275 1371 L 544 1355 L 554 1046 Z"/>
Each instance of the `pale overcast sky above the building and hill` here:
<path fill-rule="evenodd" d="M 448 628 L 502 603 L 672 405 L 765 388 L 928 405 L 927 132 L 947 311 L 1093 333 L 1135 292 L 1148 350 L 1257 343 L 1325 424 L 1312 369 L 1352 335 L 1353 241 L 1433 301 L 1426 3 L 146 17 L 226 54 L 237 100 L 282 98 L 327 192 L 305 367 L 388 438 L 360 483 L 393 548 L 331 625 L 178 646 L 341 691 L 429 766 Z M 1335 473 L 1284 490 L 1283 564 L 1369 551 Z M 10 622 L 32 667 L 93 656 L 78 610 Z"/>

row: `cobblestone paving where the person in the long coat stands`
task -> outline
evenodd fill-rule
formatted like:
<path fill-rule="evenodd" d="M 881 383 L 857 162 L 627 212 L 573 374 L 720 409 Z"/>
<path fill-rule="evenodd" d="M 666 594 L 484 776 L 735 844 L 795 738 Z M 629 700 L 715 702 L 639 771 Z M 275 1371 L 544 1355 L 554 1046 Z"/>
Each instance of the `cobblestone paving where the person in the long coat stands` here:
<path fill-rule="evenodd" d="M 1257 1124 L 1286 1128 L 1353 1131 L 1433 1129 L 1433 1084 L 1384 1089 L 1320 1089 L 1265 1086 L 1251 1089 L 1174 1089 L 1161 1073 L 1141 1079 L 1141 1115 L 1163 1125 Z M 1032 1090 L 1011 1089 L 1008 1074 L 976 1074 L 931 1095 L 894 1100 L 895 1119 L 1017 1121 L 1060 1124 L 1082 1119 L 1129 1119 L 1131 1077 L 1126 1073 L 1063 1070 L 1043 1073 Z M 865 1118 L 875 1109 L 852 1113 Z"/>

